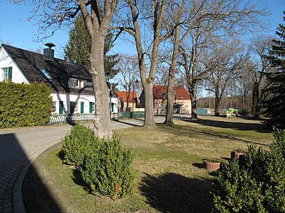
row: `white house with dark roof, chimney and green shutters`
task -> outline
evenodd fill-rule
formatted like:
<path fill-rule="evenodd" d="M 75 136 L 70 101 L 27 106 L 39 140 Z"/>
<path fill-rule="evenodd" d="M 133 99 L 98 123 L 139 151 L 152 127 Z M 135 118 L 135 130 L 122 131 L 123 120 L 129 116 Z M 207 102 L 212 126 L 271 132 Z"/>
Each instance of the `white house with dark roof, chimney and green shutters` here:
<path fill-rule="evenodd" d="M 45 83 L 51 88 L 56 114 L 93 113 L 95 96 L 89 67 L 54 58 L 54 44 L 48 43 L 44 53 L 34 53 L 2 44 L 0 49 L 0 81 Z M 108 98 L 111 113 L 117 113 L 118 96 L 111 91 Z"/>

